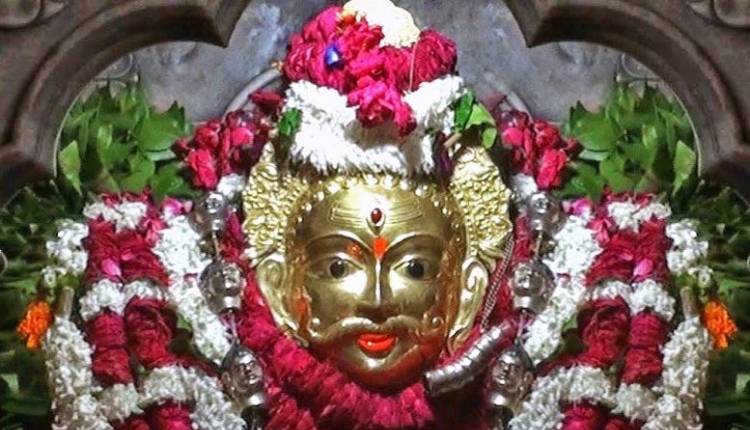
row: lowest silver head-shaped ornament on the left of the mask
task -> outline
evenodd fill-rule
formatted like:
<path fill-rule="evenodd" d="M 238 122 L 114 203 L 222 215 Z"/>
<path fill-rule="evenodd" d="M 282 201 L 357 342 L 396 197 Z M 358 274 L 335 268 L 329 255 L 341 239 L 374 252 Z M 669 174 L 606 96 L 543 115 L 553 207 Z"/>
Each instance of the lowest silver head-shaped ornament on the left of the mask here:
<path fill-rule="evenodd" d="M 250 349 L 235 343 L 221 365 L 221 383 L 229 397 L 242 409 L 248 429 L 263 428 L 266 390 L 263 367 Z"/>

